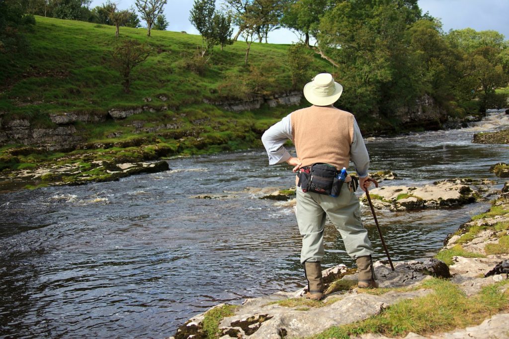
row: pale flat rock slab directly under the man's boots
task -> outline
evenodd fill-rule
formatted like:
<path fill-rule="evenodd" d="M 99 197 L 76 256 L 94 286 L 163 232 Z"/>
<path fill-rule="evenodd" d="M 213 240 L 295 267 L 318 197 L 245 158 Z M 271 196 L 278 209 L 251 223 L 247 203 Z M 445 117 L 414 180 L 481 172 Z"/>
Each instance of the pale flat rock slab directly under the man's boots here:
<path fill-rule="evenodd" d="M 442 262 L 436 259 L 413 260 L 394 263 L 392 271 L 388 263 L 377 261 L 374 264 L 375 274 L 380 287 L 412 287 L 430 277 L 428 274 L 438 275 Z M 338 265 L 323 271 L 326 284 L 337 278 L 357 280 L 357 274 L 350 273 L 345 265 Z M 344 275 L 347 274 L 347 275 Z M 446 273 L 449 274 L 448 270 Z M 266 297 L 247 299 L 240 306 L 235 315 L 224 318 L 219 324 L 222 338 L 280 338 L 305 337 L 320 333 L 331 326 L 340 326 L 359 320 L 367 319 L 382 312 L 387 306 L 404 299 L 422 297 L 431 290 L 417 290 L 411 292 L 389 291 L 383 295 L 360 293 L 354 288 L 328 294 L 323 300 L 322 307 L 295 306 L 285 307 L 277 303 L 278 300 L 298 298 L 305 289 L 296 292 L 278 292 Z M 180 332 L 178 338 L 190 338 L 197 335 L 202 328 L 204 314 L 191 318 Z M 320 319 L 320 321 L 317 321 Z M 190 335 L 183 335 L 190 330 Z"/>

